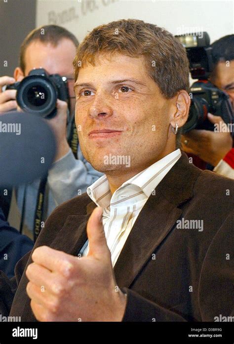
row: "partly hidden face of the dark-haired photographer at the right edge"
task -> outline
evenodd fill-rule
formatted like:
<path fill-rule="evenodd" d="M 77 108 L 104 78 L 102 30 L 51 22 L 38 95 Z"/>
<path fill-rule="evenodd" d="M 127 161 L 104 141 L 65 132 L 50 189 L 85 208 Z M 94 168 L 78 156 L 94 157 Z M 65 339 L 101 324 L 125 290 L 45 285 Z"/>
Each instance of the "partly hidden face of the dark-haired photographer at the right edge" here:
<path fill-rule="evenodd" d="M 234 60 L 230 65 L 226 62 L 218 62 L 215 69 L 215 76 L 211 79 L 219 89 L 228 93 L 234 109 Z"/>

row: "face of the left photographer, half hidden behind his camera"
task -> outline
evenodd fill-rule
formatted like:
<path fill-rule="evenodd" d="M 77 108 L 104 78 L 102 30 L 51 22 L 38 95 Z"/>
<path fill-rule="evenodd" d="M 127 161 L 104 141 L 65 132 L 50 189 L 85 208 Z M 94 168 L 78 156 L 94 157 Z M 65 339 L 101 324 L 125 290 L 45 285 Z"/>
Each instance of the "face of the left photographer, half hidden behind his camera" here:
<path fill-rule="evenodd" d="M 74 97 L 73 60 L 76 47 L 69 39 L 62 39 L 57 47 L 43 44 L 40 41 L 32 42 L 25 51 L 25 76 L 33 68 L 44 68 L 49 74 L 60 74 L 68 80 L 70 97 Z M 21 78 L 22 79 L 22 78 Z M 75 99 L 71 99 L 71 110 L 75 110 Z"/>

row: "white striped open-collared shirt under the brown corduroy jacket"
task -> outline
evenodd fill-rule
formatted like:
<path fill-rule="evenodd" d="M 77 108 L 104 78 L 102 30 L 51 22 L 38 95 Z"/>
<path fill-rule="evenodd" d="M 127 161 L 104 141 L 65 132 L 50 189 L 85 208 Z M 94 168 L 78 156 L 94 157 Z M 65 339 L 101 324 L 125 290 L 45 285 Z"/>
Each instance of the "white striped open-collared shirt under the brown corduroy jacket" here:
<path fill-rule="evenodd" d="M 113 267 L 144 204 L 180 157 L 180 149 L 174 150 L 124 182 L 113 195 L 106 175 L 87 188 L 88 196 L 103 208 L 103 227 Z M 82 256 L 87 255 L 88 249 L 87 241 L 80 251 Z"/>

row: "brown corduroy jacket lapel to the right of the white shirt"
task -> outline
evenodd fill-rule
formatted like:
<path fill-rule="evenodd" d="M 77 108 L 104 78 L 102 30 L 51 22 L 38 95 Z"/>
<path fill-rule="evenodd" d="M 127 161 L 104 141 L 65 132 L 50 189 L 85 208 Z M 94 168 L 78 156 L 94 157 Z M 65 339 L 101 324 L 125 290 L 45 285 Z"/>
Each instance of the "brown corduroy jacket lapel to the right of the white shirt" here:
<path fill-rule="evenodd" d="M 114 267 L 117 285 L 129 287 L 137 274 L 172 231 L 182 210 L 179 205 L 193 196 L 201 170 L 183 153 L 149 197 L 137 217 Z"/>

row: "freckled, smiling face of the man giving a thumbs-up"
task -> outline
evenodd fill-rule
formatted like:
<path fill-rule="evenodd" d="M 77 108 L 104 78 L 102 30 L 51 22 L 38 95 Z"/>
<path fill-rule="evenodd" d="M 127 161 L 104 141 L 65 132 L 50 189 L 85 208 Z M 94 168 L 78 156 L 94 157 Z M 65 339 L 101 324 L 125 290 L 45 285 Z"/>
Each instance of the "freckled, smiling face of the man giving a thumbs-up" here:
<path fill-rule="evenodd" d="M 130 156 L 130 169 L 141 171 L 175 149 L 167 145 L 171 102 L 147 75 L 143 57 L 96 56 L 95 66 L 80 68 L 75 94 L 79 144 L 98 171 L 128 168 L 106 164 L 105 155 Z M 103 130 L 117 132 L 90 134 Z"/>

